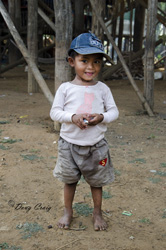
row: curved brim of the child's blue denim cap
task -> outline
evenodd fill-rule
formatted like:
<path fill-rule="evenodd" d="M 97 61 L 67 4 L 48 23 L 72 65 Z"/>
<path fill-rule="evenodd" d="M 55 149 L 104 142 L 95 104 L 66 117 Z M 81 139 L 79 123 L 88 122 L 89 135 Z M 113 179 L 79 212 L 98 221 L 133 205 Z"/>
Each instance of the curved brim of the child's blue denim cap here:
<path fill-rule="evenodd" d="M 107 55 L 106 53 L 102 52 L 98 48 L 91 47 L 90 49 L 88 49 L 88 48 L 70 49 L 68 51 L 68 53 L 70 53 L 71 50 L 74 50 L 75 52 L 77 52 L 80 55 L 102 54 L 109 62 L 111 62 L 112 64 L 114 64 L 114 62 L 111 59 L 111 57 L 109 55 Z"/>

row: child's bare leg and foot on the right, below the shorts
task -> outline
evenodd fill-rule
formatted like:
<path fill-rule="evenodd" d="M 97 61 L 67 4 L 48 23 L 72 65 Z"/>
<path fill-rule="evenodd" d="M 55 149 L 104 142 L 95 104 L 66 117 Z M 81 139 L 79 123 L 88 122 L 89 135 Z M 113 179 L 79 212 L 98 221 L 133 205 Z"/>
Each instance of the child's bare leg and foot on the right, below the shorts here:
<path fill-rule="evenodd" d="M 102 217 L 101 205 L 102 205 L 102 187 L 91 187 L 92 198 L 94 202 L 93 221 L 94 229 L 96 231 L 106 230 L 107 223 Z"/>

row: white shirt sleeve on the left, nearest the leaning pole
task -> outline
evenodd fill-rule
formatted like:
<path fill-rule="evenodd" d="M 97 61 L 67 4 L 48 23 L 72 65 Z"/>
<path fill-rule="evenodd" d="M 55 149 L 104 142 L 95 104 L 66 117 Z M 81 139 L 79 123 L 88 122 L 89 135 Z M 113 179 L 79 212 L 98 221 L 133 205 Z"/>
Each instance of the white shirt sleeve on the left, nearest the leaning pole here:
<path fill-rule="evenodd" d="M 74 113 L 64 111 L 64 103 L 65 103 L 65 88 L 64 86 L 61 85 L 59 89 L 56 91 L 53 105 L 50 110 L 50 117 L 53 121 L 58 121 L 60 123 L 72 122 L 72 115 L 74 115 Z"/>

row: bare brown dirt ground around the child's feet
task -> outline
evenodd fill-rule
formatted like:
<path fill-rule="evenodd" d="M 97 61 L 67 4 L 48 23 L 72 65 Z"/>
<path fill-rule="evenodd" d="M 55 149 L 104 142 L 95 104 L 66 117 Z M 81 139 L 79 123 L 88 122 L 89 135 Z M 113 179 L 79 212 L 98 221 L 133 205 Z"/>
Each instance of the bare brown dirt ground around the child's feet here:
<path fill-rule="evenodd" d="M 54 93 L 53 68 L 44 68 Z M 120 111 L 106 133 L 116 176 L 103 192 L 109 228 L 93 230 L 90 189 L 81 180 L 71 229 L 65 231 L 56 225 L 63 214 L 63 184 L 52 175 L 59 135 L 50 104 L 41 92 L 27 93 L 23 66 L 1 76 L 0 249 L 166 249 L 166 81 L 155 82 L 153 118 L 143 113 L 128 80 L 108 86 Z"/>

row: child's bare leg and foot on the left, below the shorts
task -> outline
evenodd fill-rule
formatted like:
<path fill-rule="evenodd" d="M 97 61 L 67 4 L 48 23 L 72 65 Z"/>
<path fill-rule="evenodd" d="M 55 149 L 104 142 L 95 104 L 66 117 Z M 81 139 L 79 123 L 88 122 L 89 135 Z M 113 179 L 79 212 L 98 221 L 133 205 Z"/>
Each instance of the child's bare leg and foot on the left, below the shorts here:
<path fill-rule="evenodd" d="M 73 216 L 73 199 L 77 183 L 65 184 L 64 186 L 64 215 L 58 222 L 59 228 L 68 229 Z"/>

